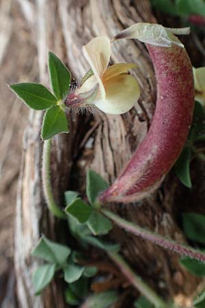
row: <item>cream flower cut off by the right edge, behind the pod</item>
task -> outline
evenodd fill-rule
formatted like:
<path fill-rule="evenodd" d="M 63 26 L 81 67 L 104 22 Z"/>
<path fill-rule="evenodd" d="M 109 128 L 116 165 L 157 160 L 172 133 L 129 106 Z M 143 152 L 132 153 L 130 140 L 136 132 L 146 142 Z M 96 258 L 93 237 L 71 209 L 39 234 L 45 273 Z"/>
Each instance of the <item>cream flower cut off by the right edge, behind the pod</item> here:
<path fill-rule="evenodd" d="M 195 99 L 205 107 L 205 67 L 193 67 Z"/>

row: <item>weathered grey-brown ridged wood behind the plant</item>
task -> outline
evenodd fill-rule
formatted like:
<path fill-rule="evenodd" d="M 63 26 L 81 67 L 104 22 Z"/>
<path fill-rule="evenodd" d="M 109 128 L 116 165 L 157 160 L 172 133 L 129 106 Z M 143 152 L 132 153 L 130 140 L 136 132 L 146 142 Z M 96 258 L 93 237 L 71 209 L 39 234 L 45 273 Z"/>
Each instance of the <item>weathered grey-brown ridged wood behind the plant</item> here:
<path fill-rule="evenodd" d="M 24 8 L 25 2 L 19 2 Z M 72 76 L 80 80 L 88 68 L 81 51 L 83 44 L 94 36 L 105 35 L 111 38 L 133 23 L 156 22 L 148 0 L 38 0 L 32 3 L 31 10 L 34 22 L 30 23 L 30 27 L 38 47 L 40 81 L 45 85 L 49 82 L 46 70 L 48 48 L 64 60 Z M 53 190 L 60 204 L 64 202 L 65 190 L 78 190 L 85 196 L 87 168 L 96 170 L 112 183 L 146 136 L 150 125 L 156 85 L 146 47 L 133 40 L 115 42 L 111 48 L 111 62 L 137 64 L 133 75 L 141 86 L 141 98 L 131 112 L 122 116 L 102 113 L 83 116 L 68 112 L 70 133 L 53 138 L 52 147 Z M 64 308 L 66 304 L 59 280 L 47 287 L 41 296 L 34 295 L 31 283 L 31 273 L 38 263 L 31 258 L 33 246 L 42 233 L 57 240 L 60 230 L 64 228 L 47 210 L 42 193 L 41 125 L 42 113 L 31 112 L 23 140 L 16 206 L 14 263 L 17 297 L 19 307 L 22 308 Z M 87 145 L 88 140 L 92 146 Z M 187 194 L 187 190 L 179 185 L 170 172 L 161 188 L 150 198 L 136 204 L 111 205 L 111 209 L 142 227 L 158 231 L 178 242 L 185 242 L 179 224 L 180 209 L 191 209 L 194 194 L 202 202 L 205 192 L 202 189 L 199 196 L 198 188 L 194 187 L 189 192 L 189 200 L 185 201 L 186 207 L 182 207 L 180 201 L 184 194 Z M 111 238 L 122 244 L 122 253 L 128 263 L 159 294 L 167 299 L 180 296 L 189 300 L 198 281 L 178 264 L 178 255 L 118 228 L 111 232 Z"/>

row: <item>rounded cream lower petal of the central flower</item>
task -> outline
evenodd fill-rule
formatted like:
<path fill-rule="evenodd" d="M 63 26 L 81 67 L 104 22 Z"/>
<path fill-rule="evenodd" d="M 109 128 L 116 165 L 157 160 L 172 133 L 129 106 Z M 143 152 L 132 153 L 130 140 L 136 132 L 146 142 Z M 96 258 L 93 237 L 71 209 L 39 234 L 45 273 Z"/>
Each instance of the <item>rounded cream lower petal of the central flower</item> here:
<path fill-rule="evenodd" d="M 105 83 L 106 99 L 95 102 L 102 112 L 124 114 L 131 110 L 140 95 L 139 84 L 131 75 L 118 75 Z"/>

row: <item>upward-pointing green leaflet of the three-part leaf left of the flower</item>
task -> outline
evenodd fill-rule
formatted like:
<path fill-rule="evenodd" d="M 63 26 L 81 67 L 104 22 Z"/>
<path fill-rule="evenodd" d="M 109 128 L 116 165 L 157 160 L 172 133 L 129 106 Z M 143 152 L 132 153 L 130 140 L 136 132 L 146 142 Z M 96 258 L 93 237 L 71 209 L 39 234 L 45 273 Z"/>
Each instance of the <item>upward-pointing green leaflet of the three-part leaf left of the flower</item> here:
<path fill-rule="evenodd" d="M 57 100 L 64 100 L 69 92 L 70 72 L 59 58 L 49 51 L 49 75 Z"/>

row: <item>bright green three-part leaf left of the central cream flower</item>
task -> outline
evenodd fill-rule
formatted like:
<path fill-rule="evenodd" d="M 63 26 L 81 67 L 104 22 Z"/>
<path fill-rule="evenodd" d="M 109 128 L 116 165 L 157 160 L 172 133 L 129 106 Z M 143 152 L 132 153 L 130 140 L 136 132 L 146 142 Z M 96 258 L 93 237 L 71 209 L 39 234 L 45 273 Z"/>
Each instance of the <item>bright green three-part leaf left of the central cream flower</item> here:
<path fill-rule="evenodd" d="M 54 53 L 49 52 L 49 75 L 55 96 L 42 84 L 12 84 L 10 88 L 33 110 L 46 110 L 42 125 L 42 139 L 52 138 L 57 133 L 68 133 L 64 112 L 64 99 L 69 92 L 70 72 Z"/>

